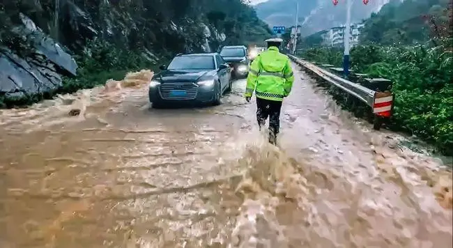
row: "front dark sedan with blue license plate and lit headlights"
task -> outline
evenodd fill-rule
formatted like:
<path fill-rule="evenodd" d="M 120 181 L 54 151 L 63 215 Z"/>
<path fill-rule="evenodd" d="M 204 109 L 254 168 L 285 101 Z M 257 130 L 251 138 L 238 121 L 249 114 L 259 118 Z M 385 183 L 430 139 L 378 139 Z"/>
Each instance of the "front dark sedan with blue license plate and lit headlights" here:
<path fill-rule="evenodd" d="M 153 107 L 185 101 L 220 104 L 231 89 L 231 68 L 217 53 L 178 55 L 160 69 L 149 84 Z"/>

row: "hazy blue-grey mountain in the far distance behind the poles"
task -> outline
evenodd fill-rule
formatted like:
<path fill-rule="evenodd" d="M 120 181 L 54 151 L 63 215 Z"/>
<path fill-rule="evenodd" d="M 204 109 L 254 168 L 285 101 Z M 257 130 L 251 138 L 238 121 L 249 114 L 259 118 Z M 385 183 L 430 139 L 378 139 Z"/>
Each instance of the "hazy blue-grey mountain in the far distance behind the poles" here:
<path fill-rule="evenodd" d="M 270 26 L 293 26 L 295 6 L 299 2 L 299 24 L 302 24 L 302 36 L 308 36 L 323 29 L 344 24 L 346 20 L 346 2 L 339 0 L 334 6 L 332 0 L 269 0 L 255 6 L 258 17 Z M 377 12 L 387 0 L 370 0 L 364 5 L 361 0 L 353 1 L 352 22 L 367 19 Z"/>

